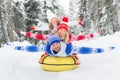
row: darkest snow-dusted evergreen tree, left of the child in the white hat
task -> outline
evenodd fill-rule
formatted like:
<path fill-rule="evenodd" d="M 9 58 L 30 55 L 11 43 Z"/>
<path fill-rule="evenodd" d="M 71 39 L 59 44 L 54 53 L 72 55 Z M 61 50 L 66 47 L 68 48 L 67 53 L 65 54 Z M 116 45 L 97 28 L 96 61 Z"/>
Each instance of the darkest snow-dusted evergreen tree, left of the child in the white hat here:
<path fill-rule="evenodd" d="M 32 25 L 37 26 L 37 24 L 40 21 L 41 17 L 39 16 L 39 14 L 41 14 L 41 11 L 40 11 L 41 5 L 37 0 L 26 0 L 24 6 L 25 6 L 25 12 L 27 16 L 25 20 L 25 24 L 27 27 L 26 28 L 27 31 L 29 31 Z"/>

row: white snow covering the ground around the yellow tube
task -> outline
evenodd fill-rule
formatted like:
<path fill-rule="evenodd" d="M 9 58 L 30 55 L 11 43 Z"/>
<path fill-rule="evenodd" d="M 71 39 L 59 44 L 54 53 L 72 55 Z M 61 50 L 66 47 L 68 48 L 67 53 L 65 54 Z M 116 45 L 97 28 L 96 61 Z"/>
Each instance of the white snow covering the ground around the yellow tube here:
<path fill-rule="evenodd" d="M 81 62 L 79 67 L 63 72 L 42 70 L 38 63 L 42 53 L 16 51 L 4 46 L 0 48 L 0 80 L 120 80 L 119 35 L 120 32 L 116 32 L 92 40 L 73 42 L 77 46 L 116 48 L 102 54 L 78 55 Z M 18 45 L 19 42 L 14 44 Z M 23 44 L 30 45 L 27 41 Z"/>

